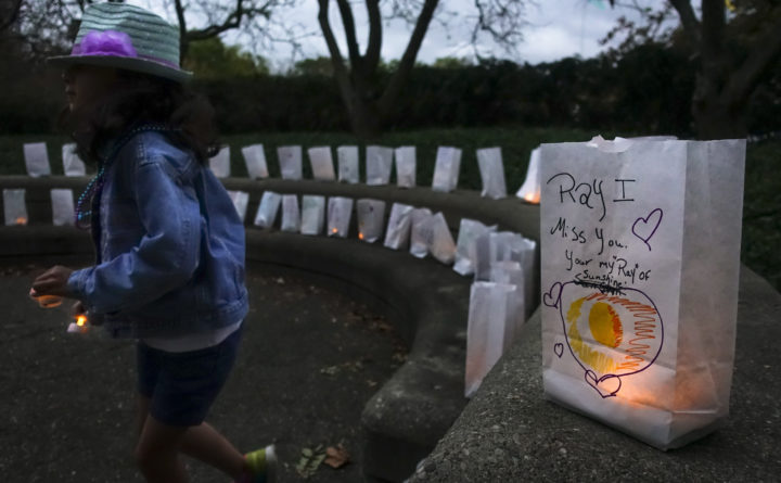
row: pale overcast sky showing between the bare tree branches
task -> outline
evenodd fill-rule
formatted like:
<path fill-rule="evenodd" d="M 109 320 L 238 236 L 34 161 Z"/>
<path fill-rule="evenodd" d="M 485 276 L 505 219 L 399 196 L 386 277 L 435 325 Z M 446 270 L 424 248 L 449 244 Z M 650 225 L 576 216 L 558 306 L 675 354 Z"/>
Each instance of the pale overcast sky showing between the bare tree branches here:
<path fill-rule="evenodd" d="M 161 7 L 159 0 L 128 0 L 129 3 L 142 7 L 152 7 L 157 13 L 174 21 L 170 12 L 166 13 Z M 363 2 L 354 1 L 354 12 L 358 25 L 358 38 L 362 47 L 366 47 L 366 8 Z M 616 24 L 620 15 L 632 16 L 631 12 L 622 9 L 611 9 L 607 0 L 537 0 L 537 7 L 529 5 L 526 10 L 526 20 L 529 25 L 524 29 L 524 41 L 517 46 L 514 55 L 509 54 L 501 48 L 486 41 L 479 48 L 484 55 L 497 58 L 510 58 L 517 62 L 555 61 L 571 55 L 590 58 L 603 49 L 599 39 Z M 653 3 L 653 2 L 651 2 Z M 696 2 L 699 3 L 699 2 Z M 470 56 L 472 48 L 466 40 L 471 28 L 471 17 L 475 15 L 473 0 L 441 0 L 440 7 L 446 10 L 459 12 L 458 20 L 450 22 L 445 28 L 437 22 L 426 34 L 421 47 L 418 61 L 431 63 L 443 56 Z M 440 9 L 441 11 L 443 9 Z M 325 42 L 320 36 L 317 22 L 318 2 L 316 0 L 303 0 L 300 5 L 289 11 L 278 12 L 278 18 L 286 25 L 298 25 L 299 33 L 310 33 L 310 37 L 300 39 L 303 45 L 303 58 L 315 58 L 327 55 Z M 441 14 L 438 18 L 444 18 Z M 335 2 L 332 2 L 330 18 L 332 28 L 337 35 L 343 54 L 346 53 L 344 35 Z M 197 18 L 190 21 L 195 25 Z M 392 60 L 401 56 L 409 40 L 411 26 L 401 21 L 392 22 L 384 26 L 382 46 L 383 59 Z M 228 43 L 241 43 L 249 46 L 244 36 L 231 34 L 225 37 Z M 252 49 L 247 49 L 252 50 Z M 264 48 L 256 53 L 272 61 L 278 68 L 290 64 L 291 50 L 284 45 L 276 48 Z M 302 55 L 299 55 L 299 59 Z"/>

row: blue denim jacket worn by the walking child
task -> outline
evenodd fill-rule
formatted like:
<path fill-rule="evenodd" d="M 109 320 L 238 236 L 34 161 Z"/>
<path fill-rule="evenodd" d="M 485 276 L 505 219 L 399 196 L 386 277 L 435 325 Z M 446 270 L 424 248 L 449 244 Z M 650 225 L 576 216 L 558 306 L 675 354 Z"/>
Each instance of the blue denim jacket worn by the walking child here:
<path fill-rule="evenodd" d="M 95 198 L 98 260 L 67 287 L 113 336 L 177 336 L 244 318 L 244 226 L 191 153 L 162 132 L 135 135 Z"/>

